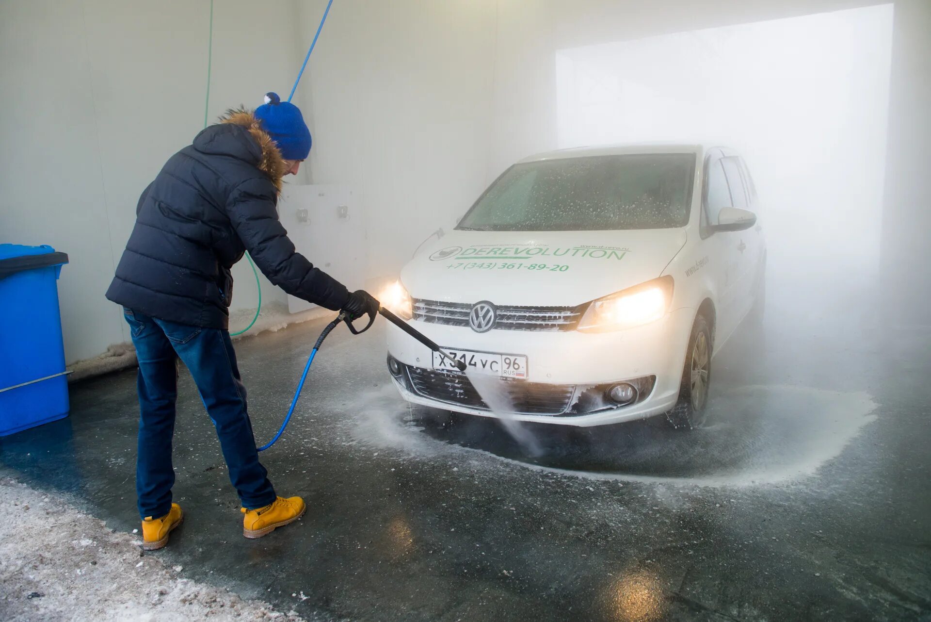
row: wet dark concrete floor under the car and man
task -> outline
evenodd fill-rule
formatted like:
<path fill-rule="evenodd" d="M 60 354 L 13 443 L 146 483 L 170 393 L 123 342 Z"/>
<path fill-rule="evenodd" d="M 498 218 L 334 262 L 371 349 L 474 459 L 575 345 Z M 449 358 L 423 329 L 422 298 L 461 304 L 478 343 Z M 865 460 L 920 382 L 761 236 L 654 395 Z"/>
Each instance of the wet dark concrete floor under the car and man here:
<path fill-rule="evenodd" d="M 157 553 L 196 579 L 308 618 L 928 619 L 931 329 L 805 310 L 771 293 L 762 333 L 714 363 L 708 427 L 533 428 L 411 411 L 384 338 L 335 331 L 266 453 L 309 511 L 261 540 L 182 374 L 175 500 Z M 323 322 L 237 344 L 269 439 Z M 71 417 L 2 439 L 0 473 L 138 526 L 135 373 L 72 389 Z"/>

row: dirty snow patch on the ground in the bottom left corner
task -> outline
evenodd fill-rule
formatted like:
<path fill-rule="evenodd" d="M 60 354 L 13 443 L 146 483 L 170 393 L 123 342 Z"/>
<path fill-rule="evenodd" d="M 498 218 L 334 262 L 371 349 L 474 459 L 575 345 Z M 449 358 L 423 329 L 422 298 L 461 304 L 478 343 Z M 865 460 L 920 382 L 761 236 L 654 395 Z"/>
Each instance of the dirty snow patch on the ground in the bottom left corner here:
<path fill-rule="evenodd" d="M 302 619 L 184 578 L 157 553 L 141 556 L 140 534 L 15 480 L 0 479 L 0 516 L 0 620 Z"/>

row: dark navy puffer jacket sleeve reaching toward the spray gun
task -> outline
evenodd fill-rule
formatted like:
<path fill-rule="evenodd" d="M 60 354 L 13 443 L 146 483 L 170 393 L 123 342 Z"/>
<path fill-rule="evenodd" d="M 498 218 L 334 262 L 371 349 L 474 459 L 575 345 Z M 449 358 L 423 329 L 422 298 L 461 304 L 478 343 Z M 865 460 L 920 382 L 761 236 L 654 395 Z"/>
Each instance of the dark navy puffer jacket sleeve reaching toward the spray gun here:
<path fill-rule="evenodd" d="M 236 186 L 226 203 L 236 234 L 265 277 L 282 290 L 328 309 L 342 308 L 348 291 L 294 250 L 278 221 L 276 195 L 275 186 L 266 180 L 252 179 Z"/>

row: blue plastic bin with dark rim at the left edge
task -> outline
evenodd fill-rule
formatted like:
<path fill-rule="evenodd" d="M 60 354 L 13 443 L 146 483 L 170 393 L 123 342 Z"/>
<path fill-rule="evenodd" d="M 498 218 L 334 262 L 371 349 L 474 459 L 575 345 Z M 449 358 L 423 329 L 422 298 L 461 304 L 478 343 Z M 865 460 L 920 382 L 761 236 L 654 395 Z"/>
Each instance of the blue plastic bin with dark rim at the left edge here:
<path fill-rule="evenodd" d="M 0 244 L 0 437 L 68 416 L 58 280 L 68 255 Z"/>

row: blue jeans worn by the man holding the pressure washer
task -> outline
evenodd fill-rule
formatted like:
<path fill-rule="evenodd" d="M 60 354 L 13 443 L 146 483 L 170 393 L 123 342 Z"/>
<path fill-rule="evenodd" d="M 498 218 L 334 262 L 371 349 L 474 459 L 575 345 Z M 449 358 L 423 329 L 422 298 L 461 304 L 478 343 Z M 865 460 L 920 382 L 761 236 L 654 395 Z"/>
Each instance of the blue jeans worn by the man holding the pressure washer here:
<path fill-rule="evenodd" d="M 229 331 L 150 318 L 124 308 L 139 358 L 139 453 L 136 493 L 139 514 L 161 517 L 171 509 L 171 436 L 178 397 L 177 358 L 191 372 L 200 399 L 217 428 L 230 481 L 243 507 L 275 501 L 275 489 L 259 462 Z"/>

